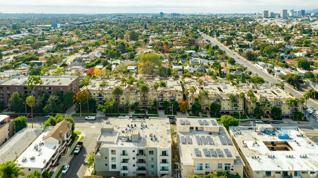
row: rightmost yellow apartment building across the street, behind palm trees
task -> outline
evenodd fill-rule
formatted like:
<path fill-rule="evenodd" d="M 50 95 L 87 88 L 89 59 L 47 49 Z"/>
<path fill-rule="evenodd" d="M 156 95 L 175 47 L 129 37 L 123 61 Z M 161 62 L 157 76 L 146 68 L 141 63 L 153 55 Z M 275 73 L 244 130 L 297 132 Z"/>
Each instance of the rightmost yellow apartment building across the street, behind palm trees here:
<path fill-rule="evenodd" d="M 255 107 L 263 107 L 262 109 L 265 112 L 265 115 L 271 115 L 271 110 L 273 107 L 278 107 L 282 110 L 282 116 L 291 117 L 294 115 L 295 111 L 301 111 L 302 104 L 298 103 L 295 106 L 287 103 L 288 99 L 294 98 L 285 90 L 276 87 L 275 85 L 255 85 L 250 83 L 241 84 L 236 86 L 240 92 L 247 93 L 249 90 L 252 90 L 255 97 L 256 102 L 268 103 L 267 106 L 256 105 L 256 103 L 251 103 L 250 98 L 246 96 L 244 101 L 245 112 L 253 114 Z"/>

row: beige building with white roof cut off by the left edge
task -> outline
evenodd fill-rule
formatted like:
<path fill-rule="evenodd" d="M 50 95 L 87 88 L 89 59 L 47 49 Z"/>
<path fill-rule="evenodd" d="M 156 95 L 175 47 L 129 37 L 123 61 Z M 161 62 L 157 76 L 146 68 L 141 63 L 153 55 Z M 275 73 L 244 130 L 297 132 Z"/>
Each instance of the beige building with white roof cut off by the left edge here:
<path fill-rule="evenodd" d="M 14 120 L 8 115 L 0 115 L 0 144 L 14 136 Z"/>

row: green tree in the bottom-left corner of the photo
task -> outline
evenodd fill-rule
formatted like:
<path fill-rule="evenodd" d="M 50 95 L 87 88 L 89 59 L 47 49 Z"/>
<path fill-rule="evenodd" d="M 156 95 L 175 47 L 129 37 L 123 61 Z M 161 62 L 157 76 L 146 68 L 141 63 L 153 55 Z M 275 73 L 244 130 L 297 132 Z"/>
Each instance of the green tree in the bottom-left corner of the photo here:
<path fill-rule="evenodd" d="M 18 178 L 23 174 L 24 172 L 14 161 L 6 161 L 0 164 L 0 178 Z"/>

